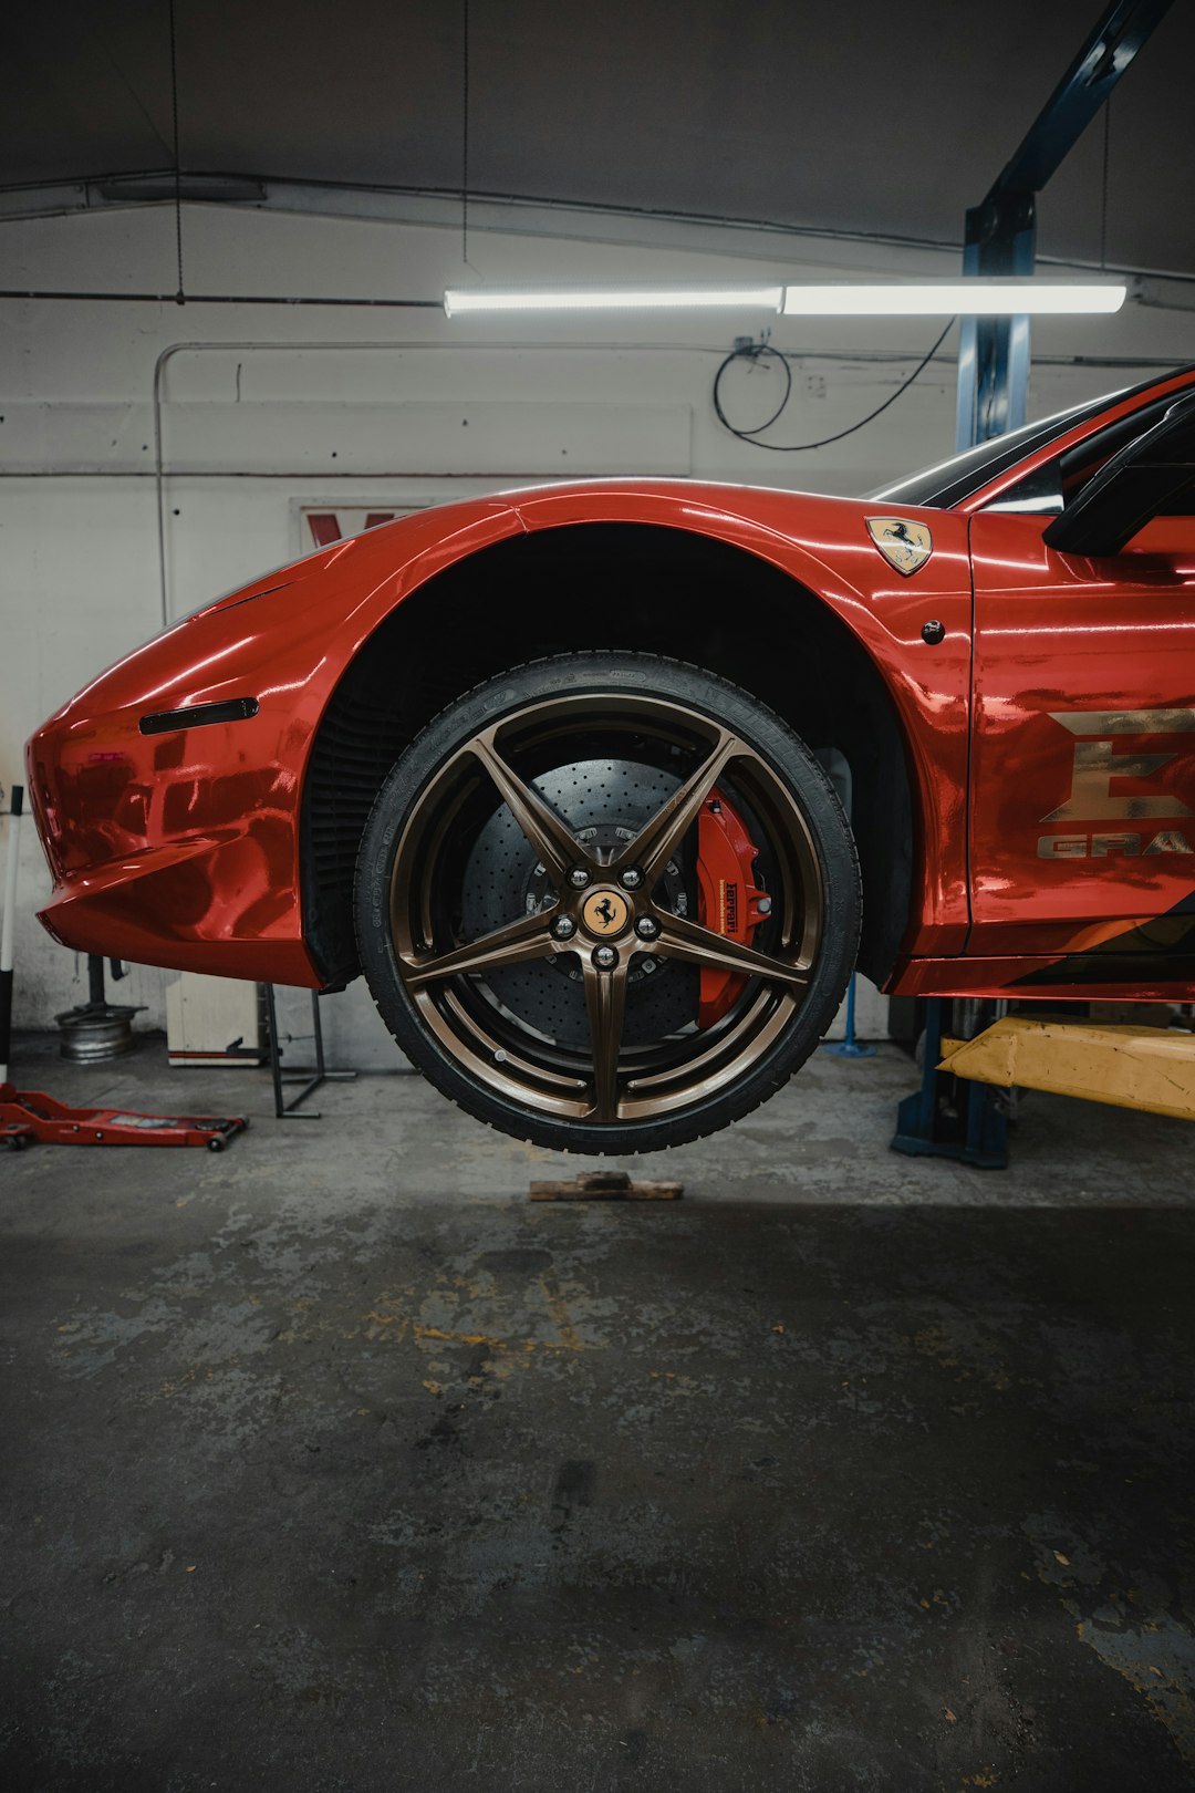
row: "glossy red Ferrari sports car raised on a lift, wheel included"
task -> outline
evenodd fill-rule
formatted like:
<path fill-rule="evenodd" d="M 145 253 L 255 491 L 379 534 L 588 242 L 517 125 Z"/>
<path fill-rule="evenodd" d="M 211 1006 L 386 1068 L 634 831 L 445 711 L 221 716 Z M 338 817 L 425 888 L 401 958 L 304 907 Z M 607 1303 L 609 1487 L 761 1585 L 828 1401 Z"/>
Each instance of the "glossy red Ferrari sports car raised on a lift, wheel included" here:
<path fill-rule="evenodd" d="M 1195 995 L 1195 368 L 876 498 L 598 481 L 321 549 L 29 744 L 56 940 L 364 974 L 457 1103 L 625 1153 L 770 1096 L 855 965 Z"/>

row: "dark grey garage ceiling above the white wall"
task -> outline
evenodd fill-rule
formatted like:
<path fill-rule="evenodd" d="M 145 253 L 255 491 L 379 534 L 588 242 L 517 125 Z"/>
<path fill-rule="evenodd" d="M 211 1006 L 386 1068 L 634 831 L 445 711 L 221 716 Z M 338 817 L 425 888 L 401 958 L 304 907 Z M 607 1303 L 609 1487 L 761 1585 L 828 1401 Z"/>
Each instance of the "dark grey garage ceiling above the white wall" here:
<path fill-rule="evenodd" d="M 471 188 L 957 242 L 1102 0 L 473 0 Z M 462 0 L 177 0 L 195 172 L 460 186 Z M 170 165 L 167 0 L 0 27 L 0 181 Z M 1107 258 L 1195 273 L 1195 7 L 1113 99 Z M 1104 122 L 1039 249 L 1100 253 Z M 563 231 L 568 224 L 563 221 Z"/>

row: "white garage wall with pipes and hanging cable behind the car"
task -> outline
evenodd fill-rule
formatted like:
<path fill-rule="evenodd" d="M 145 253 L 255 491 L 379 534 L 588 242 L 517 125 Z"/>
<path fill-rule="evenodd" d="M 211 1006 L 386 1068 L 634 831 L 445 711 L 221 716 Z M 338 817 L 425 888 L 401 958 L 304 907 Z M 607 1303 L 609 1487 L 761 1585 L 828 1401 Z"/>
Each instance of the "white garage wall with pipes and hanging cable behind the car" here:
<path fill-rule="evenodd" d="M 190 290 L 435 298 L 446 283 L 833 278 L 842 262 L 706 251 L 471 238 L 432 228 L 186 208 Z M 174 219 L 113 212 L 0 226 L 7 287 L 163 290 Z M 835 251 L 838 253 L 838 251 Z M 858 264 L 858 255 L 855 256 Z M 950 273 L 953 256 L 876 249 L 864 273 Z M 874 425 L 813 455 L 727 436 L 709 389 L 760 314 L 688 319 L 468 319 L 423 310 L 21 301 L 0 305 L 0 785 L 21 744 L 100 667 L 161 624 L 156 369 L 170 615 L 292 558 L 297 506 L 408 507 L 543 479 L 645 473 L 867 491 L 942 459 L 953 443 L 953 362 L 935 362 Z M 926 319 L 774 319 L 799 357 L 781 439 L 830 436 L 864 416 L 933 341 Z M 1045 355 L 1184 359 L 1182 314 L 1050 321 Z M 944 353 L 950 353 L 950 346 Z M 874 355 L 887 360 L 871 359 Z M 892 359 L 894 357 L 894 359 Z M 726 402 L 744 423 L 772 409 L 776 375 L 736 368 Z M 1034 412 L 1141 373 L 1039 364 Z M 774 434 L 781 434 L 779 430 Z M 5 805 L 7 809 L 7 800 Z M 38 1026 L 84 995 L 86 966 L 34 922 L 47 873 L 23 830 L 16 1018 Z M 125 1000 L 163 1020 L 172 974 L 134 968 Z M 878 1004 L 862 1004 L 874 1029 Z M 385 1061 L 360 988 L 328 1002 L 333 1051 Z"/>

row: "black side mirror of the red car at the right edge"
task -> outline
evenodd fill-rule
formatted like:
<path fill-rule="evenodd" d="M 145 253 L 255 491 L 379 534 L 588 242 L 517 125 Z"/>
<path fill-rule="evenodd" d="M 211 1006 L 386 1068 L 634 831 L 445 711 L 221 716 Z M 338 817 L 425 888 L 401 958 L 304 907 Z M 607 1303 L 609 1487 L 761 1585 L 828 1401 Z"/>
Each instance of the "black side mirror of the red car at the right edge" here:
<path fill-rule="evenodd" d="M 1118 554 L 1195 481 L 1195 396 L 1120 448 L 1043 534 L 1062 554 Z"/>

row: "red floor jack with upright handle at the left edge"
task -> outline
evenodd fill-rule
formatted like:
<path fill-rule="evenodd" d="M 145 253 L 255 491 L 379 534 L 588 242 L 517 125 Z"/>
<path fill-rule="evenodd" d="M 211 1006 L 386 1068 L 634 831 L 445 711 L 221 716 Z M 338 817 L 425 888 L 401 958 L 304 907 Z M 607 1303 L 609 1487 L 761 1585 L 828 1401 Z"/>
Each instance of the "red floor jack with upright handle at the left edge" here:
<path fill-rule="evenodd" d="M 249 1126 L 244 1117 L 136 1115 L 122 1108 L 68 1108 L 41 1090 L 18 1090 L 7 1081 L 13 1044 L 16 832 L 23 794 L 21 785 L 13 785 L 0 929 L 0 1146 L 20 1151 L 32 1140 L 41 1140 L 47 1146 L 206 1146 L 208 1151 L 224 1151 L 229 1139 L 236 1139 Z"/>

